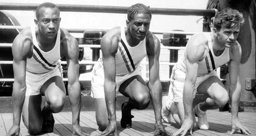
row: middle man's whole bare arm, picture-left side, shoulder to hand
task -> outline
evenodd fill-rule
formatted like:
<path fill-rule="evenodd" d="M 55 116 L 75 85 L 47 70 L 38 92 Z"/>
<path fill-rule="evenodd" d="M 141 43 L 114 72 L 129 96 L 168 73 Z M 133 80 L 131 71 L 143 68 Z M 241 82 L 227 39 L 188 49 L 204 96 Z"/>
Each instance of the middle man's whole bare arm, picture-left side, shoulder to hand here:
<path fill-rule="evenodd" d="M 120 41 L 120 29 L 112 29 L 101 40 L 102 61 L 104 67 L 104 94 L 107 105 L 108 120 L 107 128 L 99 134 L 108 136 L 114 132 L 117 135 L 116 122 L 116 61 L 118 43 Z"/>

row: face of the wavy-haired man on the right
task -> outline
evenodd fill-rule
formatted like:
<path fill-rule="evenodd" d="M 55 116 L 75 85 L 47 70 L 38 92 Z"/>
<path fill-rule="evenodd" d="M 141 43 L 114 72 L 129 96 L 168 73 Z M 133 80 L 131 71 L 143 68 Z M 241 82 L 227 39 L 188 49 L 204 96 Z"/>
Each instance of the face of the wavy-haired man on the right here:
<path fill-rule="evenodd" d="M 218 41 L 221 45 L 224 45 L 227 48 L 233 47 L 235 44 L 240 26 L 233 26 L 232 28 L 221 27 L 221 29 L 217 32 Z"/>

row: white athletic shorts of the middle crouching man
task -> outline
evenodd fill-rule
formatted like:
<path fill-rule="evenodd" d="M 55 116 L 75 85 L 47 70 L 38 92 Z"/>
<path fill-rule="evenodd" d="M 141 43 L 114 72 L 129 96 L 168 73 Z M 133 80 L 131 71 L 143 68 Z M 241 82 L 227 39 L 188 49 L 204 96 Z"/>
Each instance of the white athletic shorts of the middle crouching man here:
<path fill-rule="evenodd" d="M 141 76 L 142 66 L 139 65 L 133 72 L 126 75 L 116 75 L 116 91 L 119 91 L 120 85 L 125 82 L 127 79 L 134 75 Z M 92 68 L 92 98 L 105 98 L 104 94 L 104 69 L 103 65 L 100 62 L 100 59 L 95 63 Z"/>

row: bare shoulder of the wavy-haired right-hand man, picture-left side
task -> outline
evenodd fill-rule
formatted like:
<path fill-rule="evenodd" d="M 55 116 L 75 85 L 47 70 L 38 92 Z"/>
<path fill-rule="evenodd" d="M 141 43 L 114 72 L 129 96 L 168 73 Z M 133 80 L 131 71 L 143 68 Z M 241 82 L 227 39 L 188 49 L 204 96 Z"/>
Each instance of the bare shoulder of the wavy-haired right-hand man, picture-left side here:
<path fill-rule="evenodd" d="M 203 59 L 205 52 L 209 49 L 207 43 L 208 40 L 203 33 L 192 35 L 186 46 L 187 58 L 194 61 Z"/>

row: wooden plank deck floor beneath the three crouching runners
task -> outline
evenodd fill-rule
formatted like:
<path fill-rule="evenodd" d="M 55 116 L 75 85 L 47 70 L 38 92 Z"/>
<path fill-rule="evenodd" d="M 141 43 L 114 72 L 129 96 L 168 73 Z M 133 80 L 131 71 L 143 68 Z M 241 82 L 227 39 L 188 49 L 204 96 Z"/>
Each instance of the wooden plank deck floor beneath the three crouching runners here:
<path fill-rule="evenodd" d="M 245 112 L 239 113 L 239 120 L 253 133 L 251 136 L 256 136 L 256 107 L 245 108 Z M 120 126 L 121 111 L 116 111 L 118 122 L 118 133 L 120 136 L 150 136 L 154 131 L 154 112 L 153 110 L 132 110 L 132 115 L 135 117 L 133 126 L 130 129 L 123 129 Z M 210 130 L 204 131 L 196 129 L 195 136 L 231 136 L 231 113 L 219 112 L 218 110 L 207 111 L 207 118 L 210 125 Z M 54 114 L 55 126 L 53 133 L 41 134 L 38 136 L 71 136 L 71 112 L 61 112 Z M 80 124 L 83 131 L 94 136 L 99 134 L 95 120 L 95 111 L 81 111 Z M 4 136 L 6 131 L 12 126 L 12 113 L 0 113 L 0 136 Z M 166 130 L 175 132 L 178 126 L 164 123 Z M 26 127 L 21 121 L 21 136 L 30 136 Z M 232 136 L 242 136 L 237 133 Z"/>

